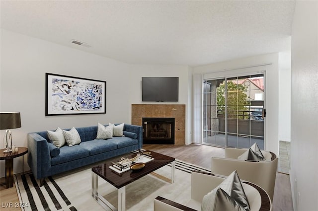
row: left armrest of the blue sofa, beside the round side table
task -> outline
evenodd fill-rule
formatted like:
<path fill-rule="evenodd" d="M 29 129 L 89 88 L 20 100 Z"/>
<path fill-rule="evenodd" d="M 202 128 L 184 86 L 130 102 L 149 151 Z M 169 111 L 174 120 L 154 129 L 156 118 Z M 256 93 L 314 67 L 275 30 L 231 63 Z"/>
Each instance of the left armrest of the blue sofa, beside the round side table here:
<path fill-rule="evenodd" d="M 51 167 L 48 141 L 37 133 L 28 133 L 28 164 L 37 179 L 46 177 Z"/>

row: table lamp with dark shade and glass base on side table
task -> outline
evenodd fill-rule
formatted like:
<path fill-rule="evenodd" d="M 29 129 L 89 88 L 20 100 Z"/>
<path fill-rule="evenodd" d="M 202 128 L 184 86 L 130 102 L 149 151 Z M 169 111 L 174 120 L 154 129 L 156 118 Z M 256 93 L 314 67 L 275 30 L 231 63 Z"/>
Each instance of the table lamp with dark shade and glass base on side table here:
<path fill-rule="evenodd" d="M 12 151 L 12 135 L 10 129 L 21 128 L 20 112 L 0 112 L 0 130 L 6 130 L 3 137 L 3 152 Z M 5 143 L 4 143 L 5 141 Z"/>

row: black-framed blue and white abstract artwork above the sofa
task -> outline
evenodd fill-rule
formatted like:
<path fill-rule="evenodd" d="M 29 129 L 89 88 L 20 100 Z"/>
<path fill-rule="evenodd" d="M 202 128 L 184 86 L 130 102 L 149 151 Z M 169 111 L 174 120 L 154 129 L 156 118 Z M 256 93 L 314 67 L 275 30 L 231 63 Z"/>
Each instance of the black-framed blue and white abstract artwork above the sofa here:
<path fill-rule="evenodd" d="M 106 81 L 45 73 L 45 116 L 106 113 Z"/>

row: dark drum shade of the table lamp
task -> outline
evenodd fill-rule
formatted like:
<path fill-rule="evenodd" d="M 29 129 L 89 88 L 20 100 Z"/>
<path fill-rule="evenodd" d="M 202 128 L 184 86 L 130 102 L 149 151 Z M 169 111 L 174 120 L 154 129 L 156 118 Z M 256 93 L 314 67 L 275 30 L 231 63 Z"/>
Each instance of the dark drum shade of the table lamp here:
<path fill-rule="evenodd" d="M 20 112 L 0 112 L 0 130 L 21 128 Z"/>

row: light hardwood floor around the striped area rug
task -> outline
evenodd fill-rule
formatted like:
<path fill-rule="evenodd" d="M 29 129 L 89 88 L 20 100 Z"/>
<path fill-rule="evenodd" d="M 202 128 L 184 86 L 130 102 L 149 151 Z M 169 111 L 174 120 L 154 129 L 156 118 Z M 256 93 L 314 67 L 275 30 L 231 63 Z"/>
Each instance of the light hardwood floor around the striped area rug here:
<path fill-rule="evenodd" d="M 175 157 L 189 163 L 193 163 L 207 169 L 211 168 L 211 157 L 224 157 L 224 149 L 203 144 L 189 144 L 183 146 L 166 144 L 144 144 L 143 148 Z M 2 182 L 2 181 L 1 181 Z M 15 186 L 5 189 L 0 187 L 0 201 L 18 202 Z M 20 211 L 20 208 L 3 208 L 0 211 Z M 273 211 L 293 211 L 289 175 L 277 173 L 273 200 Z"/>

